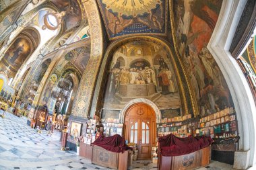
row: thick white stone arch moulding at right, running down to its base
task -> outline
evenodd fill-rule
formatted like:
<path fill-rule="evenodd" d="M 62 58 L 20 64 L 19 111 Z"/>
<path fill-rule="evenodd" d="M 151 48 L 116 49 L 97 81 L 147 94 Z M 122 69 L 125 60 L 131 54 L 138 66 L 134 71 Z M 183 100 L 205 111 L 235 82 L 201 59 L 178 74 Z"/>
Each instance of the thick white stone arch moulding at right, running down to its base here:
<path fill-rule="evenodd" d="M 228 84 L 234 101 L 239 131 L 239 149 L 234 156 L 235 169 L 247 169 L 256 165 L 256 108 L 243 71 L 228 51 L 236 31 L 237 24 L 247 1 L 223 1 L 218 22 L 207 45 L 218 63 Z M 227 67 L 228 66 L 228 67 Z"/>

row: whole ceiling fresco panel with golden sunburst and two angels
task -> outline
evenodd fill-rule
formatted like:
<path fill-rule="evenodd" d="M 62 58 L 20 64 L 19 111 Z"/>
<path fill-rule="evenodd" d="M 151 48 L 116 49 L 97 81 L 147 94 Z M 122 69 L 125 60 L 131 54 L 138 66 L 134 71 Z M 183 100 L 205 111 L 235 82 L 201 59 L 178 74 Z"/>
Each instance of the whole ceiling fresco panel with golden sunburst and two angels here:
<path fill-rule="evenodd" d="M 166 0 L 97 0 L 108 38 L 129 34 L 166 35 Z"/>

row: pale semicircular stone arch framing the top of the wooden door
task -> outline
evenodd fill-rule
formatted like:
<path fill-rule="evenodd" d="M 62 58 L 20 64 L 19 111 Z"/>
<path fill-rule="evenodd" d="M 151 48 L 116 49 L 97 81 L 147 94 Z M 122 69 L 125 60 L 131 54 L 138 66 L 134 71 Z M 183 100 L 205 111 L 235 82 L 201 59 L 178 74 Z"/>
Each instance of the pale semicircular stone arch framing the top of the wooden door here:
<path fill-rule="evenodd" d="M 138 98 L 138 99 L 132 99 L 131 101 L 129 101 L 125 105 L 123 110 L 121 110 L 121 114 L 119 115 L 119 120 L 121 123 L 123 123 L 125 121 L 125 113 L 129 109 L 129 107 L 131 107 L 131 105 L 133 105 L 135 103 L 146 103 L 146 104 L 150 105 L 150 107 L 154 110 L 154 112 L 156 114 L 156 123 L 161 122 L 162 115 L 161 115 L 159 108 L 156 106 L 156 104 L 153 101 L 150 101 L 149 99 Z"/>

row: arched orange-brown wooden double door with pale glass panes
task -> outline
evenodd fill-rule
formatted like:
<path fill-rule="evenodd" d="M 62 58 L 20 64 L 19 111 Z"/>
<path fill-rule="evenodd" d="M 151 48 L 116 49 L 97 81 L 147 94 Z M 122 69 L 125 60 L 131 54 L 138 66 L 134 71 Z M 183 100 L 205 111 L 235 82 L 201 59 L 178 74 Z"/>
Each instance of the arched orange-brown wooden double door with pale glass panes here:
<path fill-rule="evenodd" d="M 156 146 L 156 114 L 146 103 L 135 103 L 125 113 L 125 139 L 137 144 L 138 159 L 150 159 Z"/>

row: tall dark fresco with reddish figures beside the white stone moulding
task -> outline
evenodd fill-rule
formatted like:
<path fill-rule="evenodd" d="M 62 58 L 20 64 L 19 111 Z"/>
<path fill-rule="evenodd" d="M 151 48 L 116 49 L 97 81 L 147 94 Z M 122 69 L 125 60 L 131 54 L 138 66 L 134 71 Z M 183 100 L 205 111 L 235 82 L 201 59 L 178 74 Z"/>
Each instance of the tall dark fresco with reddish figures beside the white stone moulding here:
<path fill-rule="evenodd" d="M 201 116 L 232 106 L 228 85 L 212 54 L 207 50 L 222 1 L 172 1 L 174 36 L 195 91 Z"/>

